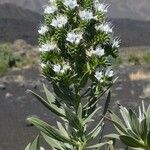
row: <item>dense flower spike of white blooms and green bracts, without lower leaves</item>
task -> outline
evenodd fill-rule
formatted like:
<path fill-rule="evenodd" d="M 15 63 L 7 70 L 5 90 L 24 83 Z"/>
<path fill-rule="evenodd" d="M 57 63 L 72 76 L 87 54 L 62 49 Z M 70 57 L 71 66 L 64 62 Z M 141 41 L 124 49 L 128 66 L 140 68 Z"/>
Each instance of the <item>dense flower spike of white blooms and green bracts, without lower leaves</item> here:
<path fill-rule="evenodd" d="M 84 6 L 84 2 L 81 7 L 77 0 L 62 0 L 62 9 L 56 0 L 50 0 L 49 4 L 45 7 L 44 13 L 46 17 L 49 15 L 51 19 L 46 21 L 46 24 L 38 30 L 41 35 L 39 51 L 44 59 L 41 63 L 42 68 L 45 68 L 46 64 L 44 65 L 44 63 L 48 62 L 56 76 L 57 74 L 64 74 L 67 70 L 70 72 L 73 70 L 72 73 L 74 74 L 81 72 L 84 74 L 87 71 L 85 66 L 89 64 L 90 74 L 94 74 L 97 82 L 102 82 L 105 77 L 111 81 L 113 70 L 109 69 L 110 61 L 108 58 L 117 55 L 120 40 L 112 39 L 113 26 L 110 22 L 105 21 L 106 19 L 99 20 L 101 15 L 107 13 L 108 5 L 100 3 L 99 0 L 93 0 L 91 9 L 86 5 Z M 73 14 L 76 14 L 76 17 L 72 16 L 73 20 L 70 22 L 69 15 Z M 90 25 L 90 23 L 92 24 Z M 89 37 L 93 32 L 95 32 L 94 36 Z M 106 41 L 101 39 L 106 39 Z M 87 42 L 87 40 L 90 41 Z M 59 53 L 54 56 L 52 52 L 57 53 L 58 49 Z M 73 49 L 76 49 L 76 53 L 73 53 Z M 73 62 L 72 60 L 76 61 Z M 62 64 L 62 62 L 65 63 Z M 109 65 L 107 66 L 107 64 Z M 81 69 L 76 68 L 77 66 L 80 66 Z M 101 67 L 104 67 L 106 71 L 99 71 Z M 76 72 L 78 70 L 80 71 Z M 49 74 L 53 76 L 51 72 Z M 74 76 L 74 74 L 70 75 Z"/>

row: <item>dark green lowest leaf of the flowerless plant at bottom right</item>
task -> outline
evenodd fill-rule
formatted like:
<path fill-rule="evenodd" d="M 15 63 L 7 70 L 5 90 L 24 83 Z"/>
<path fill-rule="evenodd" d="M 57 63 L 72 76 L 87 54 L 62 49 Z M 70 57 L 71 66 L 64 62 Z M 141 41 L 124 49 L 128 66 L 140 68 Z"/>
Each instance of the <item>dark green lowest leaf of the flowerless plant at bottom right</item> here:
<path fill-rule="evenodd" d="M 133 148 L 144 148 L 144 144 L 133 137 L 121 135 L 120 140 L 127 146 Z"/>

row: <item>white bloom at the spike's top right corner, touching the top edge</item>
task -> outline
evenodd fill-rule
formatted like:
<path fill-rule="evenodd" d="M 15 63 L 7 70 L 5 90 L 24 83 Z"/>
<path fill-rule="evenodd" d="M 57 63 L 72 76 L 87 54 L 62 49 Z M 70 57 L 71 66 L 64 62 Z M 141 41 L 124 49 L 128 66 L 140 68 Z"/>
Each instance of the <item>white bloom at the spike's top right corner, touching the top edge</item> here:
<path fill-rule="evenodd" d="M 95 0 L 94 7 L 97 11 L 106 13 L 109 6 L 106 4 L 100 3 L 99 0 Z"/>

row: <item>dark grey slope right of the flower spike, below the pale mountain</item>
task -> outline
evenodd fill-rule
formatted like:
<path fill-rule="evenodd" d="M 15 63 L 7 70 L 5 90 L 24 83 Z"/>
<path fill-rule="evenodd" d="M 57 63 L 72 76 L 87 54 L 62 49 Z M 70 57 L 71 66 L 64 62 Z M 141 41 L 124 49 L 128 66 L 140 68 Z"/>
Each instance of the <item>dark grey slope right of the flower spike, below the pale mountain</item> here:
<path fill-rule="evenodd" d="M 115 34 L 121 37 L 123 46 L 150 45 L 150 22 L 112 19 L 115 25 Z"/>

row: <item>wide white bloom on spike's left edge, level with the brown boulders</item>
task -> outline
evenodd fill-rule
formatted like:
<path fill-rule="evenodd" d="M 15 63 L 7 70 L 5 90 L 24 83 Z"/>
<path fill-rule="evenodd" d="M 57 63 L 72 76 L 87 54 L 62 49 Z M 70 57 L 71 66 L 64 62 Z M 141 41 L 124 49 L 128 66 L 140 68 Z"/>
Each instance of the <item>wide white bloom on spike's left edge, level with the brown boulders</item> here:
<path fill-rule="evenodd" d="M 56 44 L 55 43 L 46 43 L 41 45 L 41 47 L 39 48 L 40 52 L 48 52 L 51 50 L 54 50 L 56 48 Z"/>

